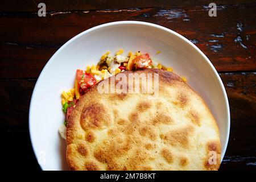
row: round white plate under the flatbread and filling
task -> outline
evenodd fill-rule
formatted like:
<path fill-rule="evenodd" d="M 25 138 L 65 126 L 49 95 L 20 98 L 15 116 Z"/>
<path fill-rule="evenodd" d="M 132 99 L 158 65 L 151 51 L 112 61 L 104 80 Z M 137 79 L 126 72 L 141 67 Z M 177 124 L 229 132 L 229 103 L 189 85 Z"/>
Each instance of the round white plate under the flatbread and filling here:
<path fill-rule="evenodd" d="M 48 61 L 36 82 L 30 103 L 30 137 L 43 170 L 69 169 L 65 141 L 58 128 L 64 121 L 60 94 L 73 87 L 76 69 L 97 64 L 106 51 L 123 48 L 150 53 L 174 68 L 207 102 L 218 122 L 221 159 L 229 139 L 230 115 L 225 88 L 212 63 L 194 44 L 176 32 L 145 22 L 113 22 L 90 28 L 64 44 Z M 156 55 L 156 51 L 161 51 Z"/>

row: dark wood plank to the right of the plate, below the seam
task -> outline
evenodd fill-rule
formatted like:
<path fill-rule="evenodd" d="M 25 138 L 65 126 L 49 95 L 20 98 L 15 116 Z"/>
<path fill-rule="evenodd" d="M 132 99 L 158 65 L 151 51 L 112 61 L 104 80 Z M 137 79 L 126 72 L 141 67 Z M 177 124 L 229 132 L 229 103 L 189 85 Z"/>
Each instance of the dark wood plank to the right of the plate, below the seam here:
<path fill-rule="evenodd" d="M 228 94 L 231 127 L 221 170 L 256 168 L 256 73 L 221 73 Z"/>

